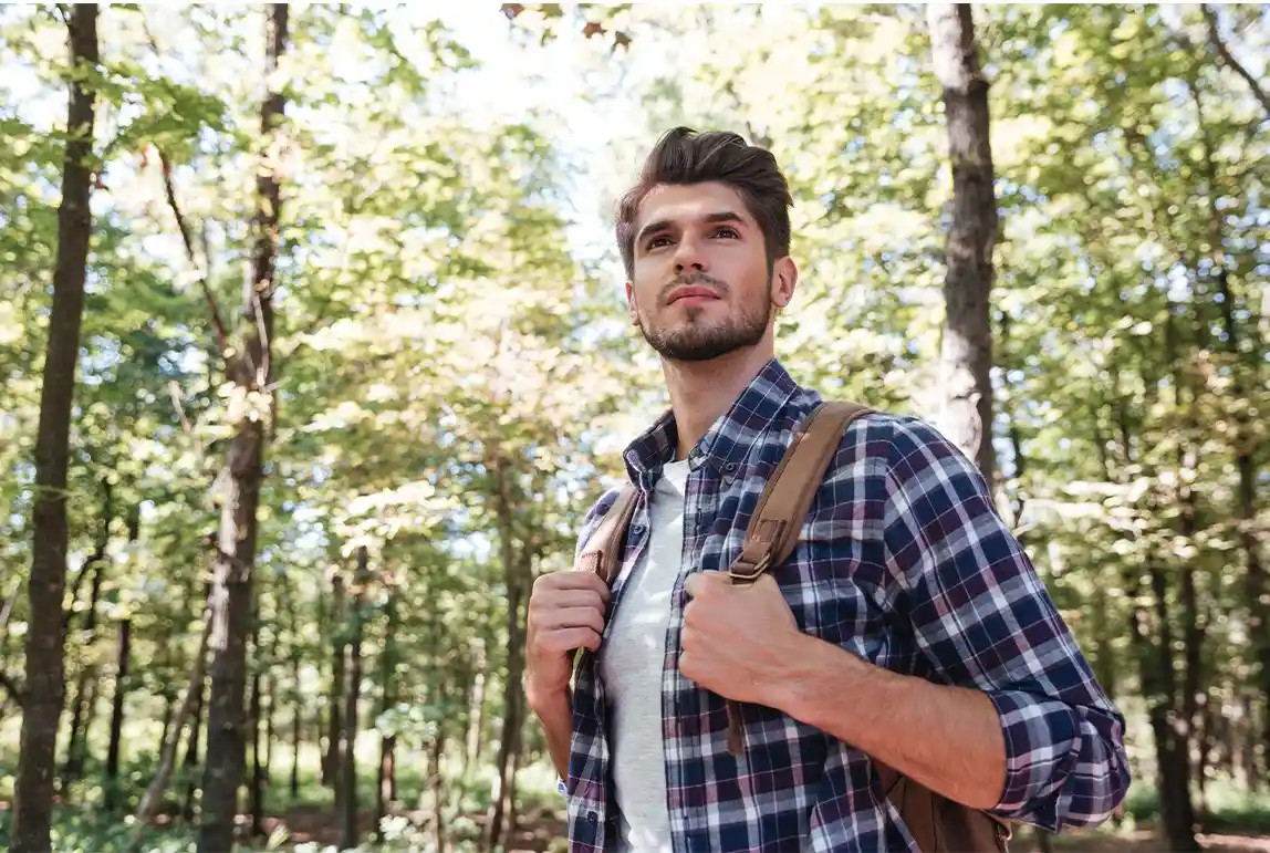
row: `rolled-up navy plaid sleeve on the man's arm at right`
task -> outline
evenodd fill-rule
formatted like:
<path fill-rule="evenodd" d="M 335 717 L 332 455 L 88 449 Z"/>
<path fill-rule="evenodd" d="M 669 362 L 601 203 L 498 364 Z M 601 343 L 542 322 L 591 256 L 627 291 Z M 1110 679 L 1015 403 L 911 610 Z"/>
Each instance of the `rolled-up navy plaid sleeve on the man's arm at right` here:
<path fill-rule="evenodd" d="M 983 691 L 1005 734 L 997 816 L 1059 831 L 1111 816 L 1129 786 L 1105 694 L 978 468 L 932 426 L 894 419 L 888 570 L 937 678 Z"/>

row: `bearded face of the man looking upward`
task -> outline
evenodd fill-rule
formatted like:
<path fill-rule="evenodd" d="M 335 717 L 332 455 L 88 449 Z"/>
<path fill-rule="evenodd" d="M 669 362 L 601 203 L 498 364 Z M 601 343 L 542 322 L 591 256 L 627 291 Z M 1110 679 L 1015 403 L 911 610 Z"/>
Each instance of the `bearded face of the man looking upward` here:
<path fill-rule="evenodd" d="M 721 183 L 662 185 L 635 221 L 631 321 L 663 358 L 701 362 L 754 347 L 789 302 L 792 261 L 767 265 L 763 232 Z M 773 274 L 775 273 L 775 274 Z"/>

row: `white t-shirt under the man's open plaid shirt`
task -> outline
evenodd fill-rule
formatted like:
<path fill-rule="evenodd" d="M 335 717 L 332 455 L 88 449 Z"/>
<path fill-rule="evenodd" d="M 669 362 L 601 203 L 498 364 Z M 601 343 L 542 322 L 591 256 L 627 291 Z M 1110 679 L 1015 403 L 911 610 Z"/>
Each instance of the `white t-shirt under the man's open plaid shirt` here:
<path fill-rule="evenodd" d="M 683 559 L 683 490 L 688 462 L 662 470 L 650 505 L 652 539 L 631 567 L 612 616 L 599 675 L 611 720 L 618 849 L 671 853 L 671 815 L 662 753 L 662 670 L 671 593 Z"/>

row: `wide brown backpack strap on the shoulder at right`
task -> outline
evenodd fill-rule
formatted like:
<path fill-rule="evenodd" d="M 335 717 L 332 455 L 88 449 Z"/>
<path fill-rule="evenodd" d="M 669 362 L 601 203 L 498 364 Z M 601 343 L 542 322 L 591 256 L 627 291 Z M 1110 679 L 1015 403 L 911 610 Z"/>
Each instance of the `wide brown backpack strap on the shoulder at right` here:
<path fill-rule="evenodd" d="M 733 583 L 753 583 L 792 553 L 829 458 L 851 421 L 870 411 L 855 402 L 822 402 L 799 425 L 754 506 L 745 545 L 729 570 Z"/>

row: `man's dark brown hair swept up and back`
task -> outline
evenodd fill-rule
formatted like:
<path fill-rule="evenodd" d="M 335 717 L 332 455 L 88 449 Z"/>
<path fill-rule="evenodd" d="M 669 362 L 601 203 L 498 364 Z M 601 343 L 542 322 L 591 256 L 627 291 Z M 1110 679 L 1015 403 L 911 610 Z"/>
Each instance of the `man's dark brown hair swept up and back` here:
<path fill-rule="evenodd" d="M 763 232 L 768 269 L 790 254 L 789 208 L 794 199 L 776 157 L 738 133 L 676 127 L 662 135 L 644 160 L 639 182 L 617 202 L 617 248 L 627 278 L 635 274 L 635 218 L 649 192 L 660 184 L 706 182 L 728 184 L 740 194 Z"/>

